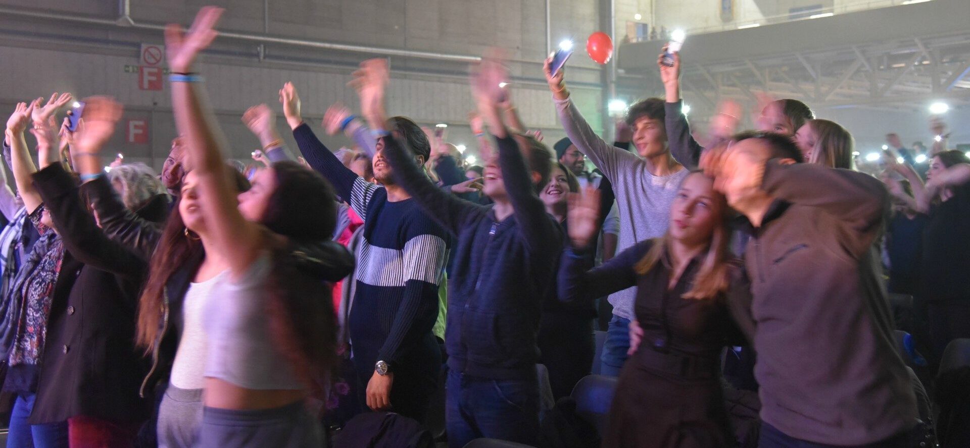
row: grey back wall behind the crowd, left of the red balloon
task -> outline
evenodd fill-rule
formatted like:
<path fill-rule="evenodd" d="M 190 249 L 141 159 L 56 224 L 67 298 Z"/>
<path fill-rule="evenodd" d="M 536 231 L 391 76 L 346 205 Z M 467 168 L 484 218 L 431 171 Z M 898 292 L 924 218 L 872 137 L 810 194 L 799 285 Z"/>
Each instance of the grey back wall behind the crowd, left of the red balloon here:
<path fill-rule="evenodd" d="M 139 23 L 189 23 L 205 4 L 227 8 L 220 30 L 352 45 L 373 45 L 415 51 L 480 55 L 487 46 L 505 48 L 511 59 L 513 97 L 526 124 L 542 129 L 555 141 L 564 135 L 541 75 L 546 56 L 545 5 L 536 0 L 270 0 L 264 15 L 260 0 L 132 0 L 131 16 Z M 105 0 L 0 0 L 0 6 L 62 14 L 113 18 L 117 3 Z M 598 3 L 551 0 L 551 36 L 573 37 L 580 45 L 569 61 L 574 97 L 595 128 L 603 105 L 600 69 L 581 49 L 598 29 Z M 161 31 L 0 15 L 0 114 L 16 101 L 70 91 L 78 97 L 111 95 L 125 105 L 127 119 L 149 123 L 147 144 L 127 143 L 125 122 L 112 140 L 112 152 L 128 161 L 159 167 L 175 135 L 169 92 L 141 90 L 139 75 L 126 66 L 139 65 L 139 45 L 161 44 Z M 303 97 L 304 115 L 328 146 L 349 144 L 342 136 L 319 130 L 327 106 L 342 102 L 357 108 L 357 98 L 345 87 L 356 63 L 372 54 L 318 48 L 267 45 L 263 60 L 257 44 L 218 39 L 200 64 L 207 79 L 210 103 L 228 134 L 232 157 L 247 159 L 258 141 L 242 126 L 242 111 L 267 103 L 279 110 L 277 90 L 293 81 Z M 449 123 L 449 139 L 474 148 L 468 123 L 473 109 L 466 63 L 394 56 L 388 112 L 413 118 L 422 125 Z M 280 132 L 293 141 L 284 120 Z M 30 137 L 28 137 L 30 138 Z"/>

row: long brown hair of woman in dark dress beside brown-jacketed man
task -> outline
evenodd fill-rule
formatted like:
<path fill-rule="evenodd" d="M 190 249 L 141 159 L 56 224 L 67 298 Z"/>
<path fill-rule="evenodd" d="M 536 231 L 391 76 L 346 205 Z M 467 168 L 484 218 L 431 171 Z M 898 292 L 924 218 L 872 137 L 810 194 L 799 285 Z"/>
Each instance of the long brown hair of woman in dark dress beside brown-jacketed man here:
<path fill-rule="evenodd" d="M 693 171 L 684 177 L 681 184 L 693 175 L 703 175 L 699 171 Z M 711 189 L 713 192 L 714 190 Z M 727 245 L 730 243 L 730 231 L 727 228 L 727 201 L 724 195 L 715 192 L 717 200 L 721 202 L 721 221 L 714 225 L 714 232 L 711 241 L 707 245 L 706 254 L 700 263 L 700 269 L 694 278 L 694 285 L 691 290 L 684 293 L 685 299 L 711 299 L 727 290 L 730 254 Z M 670 230 L 667 230 L 662 237 L 654 240 L 653 246 L 643 258 L 633 266 L 633 270 L 639 275 L 645 275 L 657 267 L 658 263 L 663 263 L 667 268 L 672 268 L 670 262 L 670 245 L 673 244 L 670 237 Z"/>

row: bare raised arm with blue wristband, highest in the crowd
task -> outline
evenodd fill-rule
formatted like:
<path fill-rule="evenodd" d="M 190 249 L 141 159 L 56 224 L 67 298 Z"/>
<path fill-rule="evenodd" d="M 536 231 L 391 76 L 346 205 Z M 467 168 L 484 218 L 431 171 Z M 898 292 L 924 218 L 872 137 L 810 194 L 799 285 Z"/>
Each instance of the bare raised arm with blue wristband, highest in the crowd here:
<path fill-rule="evenodd" d="M 169 68 L 183 74 L 172 82 L 172 105 L 178 134 L 187 142 L 186 159 L 198 178 L 199 200 L 203 215 L 210 224 L 215 251 L 229 261 L 235 280 L 244 275 L 266 247 L 257 224 L 242 218 L 237 208 L 234 187 L 230 184 L 223 148 L 225 136 L 215 122 L 205 91 L 191 75 L 199 52 L 215 39 L 213 29 L 223 10 L 204 7 L 187 33 L 181 26 L 165 28 L 165 45 Z"/>

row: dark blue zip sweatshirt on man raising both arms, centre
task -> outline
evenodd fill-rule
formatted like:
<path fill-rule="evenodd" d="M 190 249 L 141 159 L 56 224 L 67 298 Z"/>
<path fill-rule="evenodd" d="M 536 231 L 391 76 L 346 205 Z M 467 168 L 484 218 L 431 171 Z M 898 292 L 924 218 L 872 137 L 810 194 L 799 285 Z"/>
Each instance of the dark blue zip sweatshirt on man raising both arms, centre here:
<path fill-rule="evenodd" d="M 564 236 L 534 193 L 518 144 L 511 137 L 497 139 L 514 209 L 498 222 L 492 207 L 442 192 L 398 140 L 383 138 L 396 181 L 458 239 L 448 282 L 448 367 L 487 379 L 534 376 L 539 310 L 555 281 Z"/>

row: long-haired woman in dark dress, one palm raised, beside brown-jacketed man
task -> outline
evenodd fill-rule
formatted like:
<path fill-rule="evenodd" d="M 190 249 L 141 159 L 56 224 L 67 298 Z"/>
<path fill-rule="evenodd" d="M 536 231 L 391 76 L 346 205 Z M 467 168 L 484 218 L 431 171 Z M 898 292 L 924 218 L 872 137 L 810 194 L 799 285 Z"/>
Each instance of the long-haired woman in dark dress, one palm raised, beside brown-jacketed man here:
<path fill-rule="evenodd" d="M 727 204 L 701 173 L 688 175 L 659 239 L 636 244 L 602 266 L 588 246 L 596 235 L 595 198 L 570 207 L 571 248 L 559 274 L 561 300 L 637 286 L 634 311 L 643 343 L 620 373 L 603 446 L 709 448 L 734 445 L 721 389 L 722 348 L 742 339 L 729 312 L 746 284 L 727 253 Z M 733 297 L 732 297 L 733 300 Z M 632 345 L 632 344 L 631 344 Z"/>

